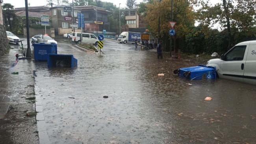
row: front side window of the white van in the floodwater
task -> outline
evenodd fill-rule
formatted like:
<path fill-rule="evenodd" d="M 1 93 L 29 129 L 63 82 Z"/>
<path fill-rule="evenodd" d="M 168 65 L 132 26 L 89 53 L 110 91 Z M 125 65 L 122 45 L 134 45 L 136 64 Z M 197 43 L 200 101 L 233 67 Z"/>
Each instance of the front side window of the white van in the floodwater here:
<path fill-rule="evenodd" d="M 226 54 L 226 61 L 242 61 L 245 56 L 246 46 L 236 46 L 228 54 Z"/>

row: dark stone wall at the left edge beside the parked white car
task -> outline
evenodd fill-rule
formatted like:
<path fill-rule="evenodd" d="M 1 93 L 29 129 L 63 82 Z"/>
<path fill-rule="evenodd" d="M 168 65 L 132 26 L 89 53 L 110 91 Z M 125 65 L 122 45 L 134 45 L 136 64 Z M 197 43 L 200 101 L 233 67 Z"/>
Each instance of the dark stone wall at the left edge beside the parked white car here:
<path fill-rule="evenodd" d="M 7 41 L 6 29 L 0 24 L 0 55 L 3 55 L 9 49 L 9 43 Z"/>

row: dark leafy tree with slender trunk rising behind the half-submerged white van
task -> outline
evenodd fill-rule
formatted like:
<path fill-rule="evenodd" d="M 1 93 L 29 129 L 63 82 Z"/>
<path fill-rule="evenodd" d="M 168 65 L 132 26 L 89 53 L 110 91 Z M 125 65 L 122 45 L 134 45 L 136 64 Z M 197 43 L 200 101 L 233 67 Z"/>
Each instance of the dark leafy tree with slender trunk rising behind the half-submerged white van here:
<path fill-rule="evenodd" d="M 227 29 L 228 47 L 232 47 L 232 28 L 246 31 L 255 26 L 256 2 L 254 0 L 220 0 L 218 4 L 211 5 L 209 0 L 191 0 L 192 4 L 201 6 L 197 11 L 197 19 L 206 26 L 221 24 Z"/>

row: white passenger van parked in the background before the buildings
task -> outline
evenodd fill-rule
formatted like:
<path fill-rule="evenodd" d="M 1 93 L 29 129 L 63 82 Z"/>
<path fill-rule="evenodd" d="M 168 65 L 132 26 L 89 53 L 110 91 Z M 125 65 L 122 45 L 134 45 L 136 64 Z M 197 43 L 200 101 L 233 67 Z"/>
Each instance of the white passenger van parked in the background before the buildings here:
<path fill-rule="evenodd" d="M 83 35 L 82 43 L 95 44 L 95 45 L 98 44 L 98 38 L 95 35 L 91 33 L 82 33 L 82 35 Z M 72 42 L 76 42 L 80 44 L 81 43 L 80 37 L 81 37 L 81 33 L 74 32 L 72 37 Z"/>

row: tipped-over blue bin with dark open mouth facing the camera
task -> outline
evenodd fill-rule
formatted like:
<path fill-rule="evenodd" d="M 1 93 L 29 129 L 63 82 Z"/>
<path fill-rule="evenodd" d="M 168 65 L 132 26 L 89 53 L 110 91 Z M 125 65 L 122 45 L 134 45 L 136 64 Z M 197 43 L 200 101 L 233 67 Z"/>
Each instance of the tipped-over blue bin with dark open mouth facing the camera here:
<path fill-rule="evenodd" d="M 77 66 L 77 59 L 73 55 L 48 54 L 48 67 L 74 67 Z"/>

